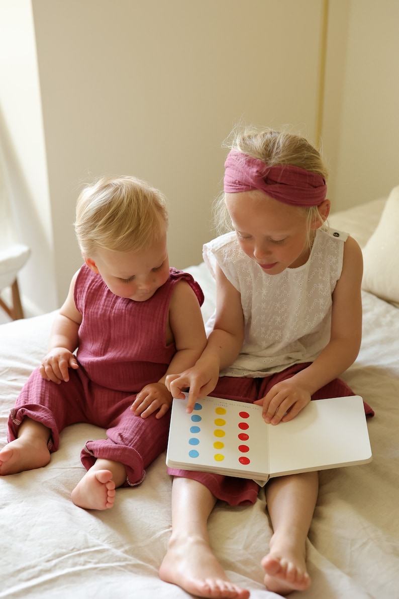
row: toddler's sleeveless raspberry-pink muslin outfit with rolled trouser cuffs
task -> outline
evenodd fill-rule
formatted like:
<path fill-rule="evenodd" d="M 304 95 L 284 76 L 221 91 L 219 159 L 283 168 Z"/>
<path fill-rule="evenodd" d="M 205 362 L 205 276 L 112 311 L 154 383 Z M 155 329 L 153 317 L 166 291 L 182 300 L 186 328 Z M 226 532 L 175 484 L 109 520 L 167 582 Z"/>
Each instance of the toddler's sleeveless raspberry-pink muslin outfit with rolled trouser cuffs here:
<path fill-rule="evenodd" d="M 170 412 L 160 419 L 135 416 L 130 406 L 148 383 L 165 374 L 176 352 L 166 345 L 166 322 L 173 288 L 186 281 L 200 305 L 200 286 L 188 273 L 170 268 L 169 279 L 150 299 L 136 302 L 112 294 L 99 274 L 81 267 L 75 284 L 75 305 L 83 319 L 79 328 L 79 368 L 69 381 L 45 381 L 36 368 L 23 387 L 8 419 L 8 441 L 17 437 L 25 416 L 51 429 L 50 452 L 59 434 L 73 423 L 106 428 L 106 439 L 87 441 L 81 461 L 88 470 L 97 458 L 126 465 L 124 486 L 142 482 L 145 468 L 166 449 Z"/>

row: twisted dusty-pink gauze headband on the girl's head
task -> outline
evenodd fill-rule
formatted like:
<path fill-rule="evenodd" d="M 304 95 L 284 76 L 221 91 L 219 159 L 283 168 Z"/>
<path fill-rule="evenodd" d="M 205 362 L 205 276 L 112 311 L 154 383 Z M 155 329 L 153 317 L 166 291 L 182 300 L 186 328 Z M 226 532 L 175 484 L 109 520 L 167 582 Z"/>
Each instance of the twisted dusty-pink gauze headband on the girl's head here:
<path fill-rule="evenodd" d="M 224 191 L 237 193 L 259 189 L 292 206 L 318 206 L 327 185 L 321 175 L 292 165 L 268 167 L 263 161 L 232 150 L 224 163 Z"/>

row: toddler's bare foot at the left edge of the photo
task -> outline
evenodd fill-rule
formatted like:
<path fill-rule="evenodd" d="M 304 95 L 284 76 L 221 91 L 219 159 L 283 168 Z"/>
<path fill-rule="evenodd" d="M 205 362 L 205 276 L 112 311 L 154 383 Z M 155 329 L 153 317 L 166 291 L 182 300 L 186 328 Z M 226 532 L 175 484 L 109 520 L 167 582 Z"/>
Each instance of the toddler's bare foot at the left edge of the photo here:
<path fill-rule="evenodd" d="M 50 462 L 47 444 L 33 437 L 17 438 L 0 451 L 0 475 L 42 468 Z"/>

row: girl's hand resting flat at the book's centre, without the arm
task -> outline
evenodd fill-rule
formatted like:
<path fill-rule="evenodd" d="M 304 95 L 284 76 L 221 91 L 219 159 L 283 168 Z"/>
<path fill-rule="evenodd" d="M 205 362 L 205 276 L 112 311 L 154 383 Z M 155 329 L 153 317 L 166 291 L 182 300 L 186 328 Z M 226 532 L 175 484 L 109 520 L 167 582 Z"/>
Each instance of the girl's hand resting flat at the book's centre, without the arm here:
<path fill-rule="evenodd" d="M 287 379 L 276 383 L 265 397 L 254 401 L 254 404 L 263 405 L 265 422 L 278 424 L 295 418 L 310 399 L 309 391 L 296 385 L 293 379 Z"/>

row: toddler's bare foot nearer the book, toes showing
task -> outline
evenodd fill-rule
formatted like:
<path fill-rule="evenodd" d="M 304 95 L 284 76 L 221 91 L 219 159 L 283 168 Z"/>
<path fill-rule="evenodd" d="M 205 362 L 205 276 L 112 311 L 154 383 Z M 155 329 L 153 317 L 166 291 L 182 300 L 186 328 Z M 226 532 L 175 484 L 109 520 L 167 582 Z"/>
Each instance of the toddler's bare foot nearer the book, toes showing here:
<path fill-rule="evenodd" d="M 90 470 L 71 494 L 75 506 L 86 510 L 106 510 L 114 505 L 115 483 L 111 470 Z"/>

